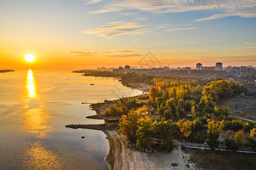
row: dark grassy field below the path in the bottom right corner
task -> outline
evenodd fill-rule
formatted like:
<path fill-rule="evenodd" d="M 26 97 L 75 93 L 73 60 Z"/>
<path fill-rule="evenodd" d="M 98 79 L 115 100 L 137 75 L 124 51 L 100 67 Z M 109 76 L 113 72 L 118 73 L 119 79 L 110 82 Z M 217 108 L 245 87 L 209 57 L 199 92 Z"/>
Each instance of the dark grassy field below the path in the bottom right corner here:
<path fill-rule="evenodd" d="M 196 169 L 256 169 L 256 154 L 186 149 Z"/>

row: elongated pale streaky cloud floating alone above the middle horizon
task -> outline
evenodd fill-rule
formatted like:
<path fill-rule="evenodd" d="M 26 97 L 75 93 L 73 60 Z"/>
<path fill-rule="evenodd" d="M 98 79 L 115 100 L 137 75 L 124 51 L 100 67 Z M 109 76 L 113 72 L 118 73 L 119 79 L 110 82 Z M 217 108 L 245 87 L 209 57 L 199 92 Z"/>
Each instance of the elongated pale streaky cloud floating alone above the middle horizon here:
<path fill-rule="evenodd" d="M 138 25 L 137 23 L 132 22 L 112 22 L 109 25 L 102 25 L 98 28 L 89 29 L 87 31 L 81 31 L 85 34 L 97 34 L 102 37 L 109 37 L 114 35 L 144 35 L 146 34 L 146 28 L 143 28 L 143 25 Z"/>

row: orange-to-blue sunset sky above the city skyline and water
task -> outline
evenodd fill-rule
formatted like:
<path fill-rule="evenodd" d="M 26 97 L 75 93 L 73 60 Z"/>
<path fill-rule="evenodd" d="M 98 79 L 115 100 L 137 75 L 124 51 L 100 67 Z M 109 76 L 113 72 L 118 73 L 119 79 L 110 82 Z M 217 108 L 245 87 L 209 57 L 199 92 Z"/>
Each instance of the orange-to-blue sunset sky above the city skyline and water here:
<path fill-rule="evenodd" d="M 0 1 L 0 67 L 139 67 L 148 52 L 162 66 L 255 66 L 255 16 L 245 0 Z"/>

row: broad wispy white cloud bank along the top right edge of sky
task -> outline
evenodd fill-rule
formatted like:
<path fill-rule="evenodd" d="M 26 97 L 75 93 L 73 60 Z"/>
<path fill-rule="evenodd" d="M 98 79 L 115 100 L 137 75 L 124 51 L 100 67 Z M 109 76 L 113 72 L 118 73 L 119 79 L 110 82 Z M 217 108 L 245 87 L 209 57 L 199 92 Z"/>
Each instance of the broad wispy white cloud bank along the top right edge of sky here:
<path fill-rule="evenodd" d="M 113 0 L 108 2 L 100 10 L 92 11 L 90 14 L 117 12 L 126 9 L 154 14 L 199 10 L 209 10 L 218 13 L 195 20 L 196 22 L 200 22 L 227 16 L 240 16 L 241 18 L 256 17 L 255 7 L 256 1 L 254 0 Z"/>

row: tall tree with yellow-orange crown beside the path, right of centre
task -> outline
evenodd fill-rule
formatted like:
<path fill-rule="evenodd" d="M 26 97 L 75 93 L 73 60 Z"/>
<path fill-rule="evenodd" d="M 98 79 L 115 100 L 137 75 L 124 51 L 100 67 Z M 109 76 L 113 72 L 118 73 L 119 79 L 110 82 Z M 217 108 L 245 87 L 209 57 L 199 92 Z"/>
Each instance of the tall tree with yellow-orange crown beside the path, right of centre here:
<path fill-rule="evenodd" d="M 216 148 L 218 146 L 218 137 L 220 136 L 220 133 L 222 131 L 223 128 L 223 122 L 216 122 L 214 120 L 208 120 L 208 133 L 207 133 L 207 144 L 208 146 L 214 150 L 214 148 Z"/>

